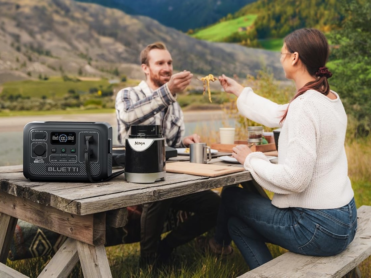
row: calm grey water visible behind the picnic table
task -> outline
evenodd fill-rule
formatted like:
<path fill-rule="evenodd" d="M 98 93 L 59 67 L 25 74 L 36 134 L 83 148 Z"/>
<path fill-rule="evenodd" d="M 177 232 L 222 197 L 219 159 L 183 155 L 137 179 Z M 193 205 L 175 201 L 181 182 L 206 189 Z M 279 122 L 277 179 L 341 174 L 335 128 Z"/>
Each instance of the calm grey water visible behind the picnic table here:
<path fill-rule="evenodd" d="M 234 120 L 210 120 L 198 122 L 186 122 L 185 135 L 198 133 L 203 137 L 209 137 L 209 133 L 219 130 L 220 127 L 234 126 Z M 208 133 L 208 134 L 205 134 Z M 113 127 L 113 143 L 117 145 L 117 129 Z M 0 133 L 0 166 L 18 165 L 23 163 L 23 132 Z"/>

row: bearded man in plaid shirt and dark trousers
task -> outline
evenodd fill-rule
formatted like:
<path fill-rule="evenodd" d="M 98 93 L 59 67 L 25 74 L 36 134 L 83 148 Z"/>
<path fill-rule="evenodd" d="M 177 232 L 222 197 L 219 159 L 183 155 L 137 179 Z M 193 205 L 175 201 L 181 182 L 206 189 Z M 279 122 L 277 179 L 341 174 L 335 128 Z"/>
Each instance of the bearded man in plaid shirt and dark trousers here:
<path fill-rule="evenodd" d="M 173 74 L 173 60 L 163 43 L 149 44 L 142 50 L 140 59 L 146 80 L 136 87 L 121 89 L 116 96 L 119 142 L 124 145 L 130 126 L 138 124 L 161 125 L 166 145 L 174 148 L 199 142 L 197 134 L 184 137 L 183 112 L 176 101 L 176 93 L 190 84 L 193 75 L 185 70 Z M 219 203 L 220 197 L 216 193 L 203 191 L 144 204 L 141 262 L 166 262 L 175 247 L 215 226 Z M 194 214 L 160 240 L 170 208 Z"/>

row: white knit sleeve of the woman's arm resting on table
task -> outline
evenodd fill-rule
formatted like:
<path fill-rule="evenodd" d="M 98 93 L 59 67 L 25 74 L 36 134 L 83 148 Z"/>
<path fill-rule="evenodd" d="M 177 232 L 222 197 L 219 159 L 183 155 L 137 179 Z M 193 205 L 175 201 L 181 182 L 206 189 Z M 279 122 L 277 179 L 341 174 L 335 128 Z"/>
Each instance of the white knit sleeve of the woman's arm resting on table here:
<path fill-rule="evenodd" d="M 282 164 L 272 164 L 261 152 L 250 153 L 244 167 L 263 188 L 279 193 L 302 192 L 309 185 L 316 163 L 318 133 L 313 107 L 303 99 L 290 104 L 285 125 L 288 125 L 287 149 Z"/>

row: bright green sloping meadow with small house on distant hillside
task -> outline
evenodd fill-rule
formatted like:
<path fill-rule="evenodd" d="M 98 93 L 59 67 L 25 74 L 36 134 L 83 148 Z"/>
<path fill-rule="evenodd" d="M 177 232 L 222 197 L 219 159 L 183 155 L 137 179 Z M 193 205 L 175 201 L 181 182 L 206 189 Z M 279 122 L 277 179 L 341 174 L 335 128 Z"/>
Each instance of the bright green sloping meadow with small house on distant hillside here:
<path fill-rule="evenodd" d="M 225 37 L 230 36 L 234 32 L 238 32 L 239 27 L 251 26 L 256 17 L 256 14 L 248 14 L 237 19 L 220 22 L 202 29 L 191 36 L 201 40 L 208 40 L 210 42 L 222 42 Z"/>

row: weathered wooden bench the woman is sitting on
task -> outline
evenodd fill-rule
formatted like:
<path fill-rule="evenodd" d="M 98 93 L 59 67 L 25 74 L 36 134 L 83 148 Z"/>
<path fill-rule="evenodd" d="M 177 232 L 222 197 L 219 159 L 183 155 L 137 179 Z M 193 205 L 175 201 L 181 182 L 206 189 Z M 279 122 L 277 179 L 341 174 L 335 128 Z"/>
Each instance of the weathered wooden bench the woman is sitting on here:
<path fill-rule="evenodd" d="M 361 277 L 357 266 L 371 255 L 371 206 L 357 209 L 357 222 L 358 228 L 353 241 L 345 251 L 336 256 L 314 257 L 286 252 L 238 278 L 338 278 L 352 270 L 352 277 Z M 369 277 L 368 274 L 363 275 Z"/>

